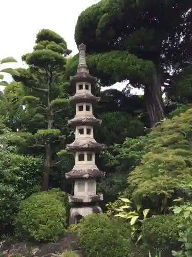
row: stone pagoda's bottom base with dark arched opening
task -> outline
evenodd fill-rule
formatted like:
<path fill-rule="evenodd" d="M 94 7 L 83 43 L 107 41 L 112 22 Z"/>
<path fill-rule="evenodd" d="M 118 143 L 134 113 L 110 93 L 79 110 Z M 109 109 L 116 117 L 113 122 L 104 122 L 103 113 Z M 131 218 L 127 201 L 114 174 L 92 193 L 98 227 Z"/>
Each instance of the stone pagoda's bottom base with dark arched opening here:
<path fill-rule="evenodd" d="M 69 226 L 77 224 L 82 217 L 93 213 L 102 214 L 103 212 L 99 206 L 72 207 L 69 214 Z"/>

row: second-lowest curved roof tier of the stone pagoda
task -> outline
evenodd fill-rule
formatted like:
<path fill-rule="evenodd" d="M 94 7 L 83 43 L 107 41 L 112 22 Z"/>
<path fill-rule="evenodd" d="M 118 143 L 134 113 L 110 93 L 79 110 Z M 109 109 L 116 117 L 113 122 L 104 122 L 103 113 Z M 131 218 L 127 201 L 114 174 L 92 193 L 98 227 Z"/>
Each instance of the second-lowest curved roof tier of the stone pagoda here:
<path fill-rule="evenodd" d="M 99 151 L 105 148 L 104 144 L 98 143 L 94 138 L 76 138 L 75 141 L 66 146 L 68 151 Z"/>

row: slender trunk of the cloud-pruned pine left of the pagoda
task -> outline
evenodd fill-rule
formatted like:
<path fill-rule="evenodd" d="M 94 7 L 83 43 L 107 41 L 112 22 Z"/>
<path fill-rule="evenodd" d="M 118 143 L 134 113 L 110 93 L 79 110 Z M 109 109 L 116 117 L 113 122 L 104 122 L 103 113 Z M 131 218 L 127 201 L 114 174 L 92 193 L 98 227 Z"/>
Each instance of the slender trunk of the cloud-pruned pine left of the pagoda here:
<path fill-rule="evenodd" d="M 49 77 L 49 85 L 48 85 L 48 130 L 51 130 L 53 127 L 53 108 L 51 106 L 51 100 L 50 100 L 50 92 L 51 92 L 51 86 L 52 86 L 52 73 L 50 73 Z M 42 179 L 42 191 L 49 190 L 49 175 L 51 173 L 51 167 L 52 167 L 52 149 L 51 149 L 51 138 L 47 138 L 46 140 L 46 158 L 45 158 L 45 164 L 44 164 L 44 177 Z"/>

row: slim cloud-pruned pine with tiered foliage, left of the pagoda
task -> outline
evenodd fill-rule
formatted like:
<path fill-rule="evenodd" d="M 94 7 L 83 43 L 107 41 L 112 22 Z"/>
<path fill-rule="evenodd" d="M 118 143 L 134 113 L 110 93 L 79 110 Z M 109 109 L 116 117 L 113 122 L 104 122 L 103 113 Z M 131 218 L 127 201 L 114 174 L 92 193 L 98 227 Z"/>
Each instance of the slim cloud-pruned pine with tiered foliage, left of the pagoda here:
<path fill-rule="evenodd" d="M 23 97 L 25 112 L 31 107 L 35 108 L 35 119 L 39 128 L 33 137 L 28 137 L 29 146 L 45 148 L 44 178 L 42 190 L 49 188 L 49 176 L 52 170 L 53 146 L 65 139 L 62 136 L 61 124 L 54 124 L 54 119 L 59 112 L 65 114 L 65 123 L 70 115 L 65 86 L 62 79 L 65 74 L 66 57 L 71 51 L 67 43 L 54 31 L 42 29 L 36 36 L 34 51 L 22 57 L 28 69 L 18 69 L 20 77 L 14 76 L 15 81 L 22 82 L 26 87 Z M 62 84 L 63 83 L 63 84 Z M 33 119 L 34 121 L 34 119 Z M 41 122 L 40 122 L 41 121 Z M 41 127 L 42 121 L 46 126 Z M 44 122 L 44 125 L 45 125 Z"/>

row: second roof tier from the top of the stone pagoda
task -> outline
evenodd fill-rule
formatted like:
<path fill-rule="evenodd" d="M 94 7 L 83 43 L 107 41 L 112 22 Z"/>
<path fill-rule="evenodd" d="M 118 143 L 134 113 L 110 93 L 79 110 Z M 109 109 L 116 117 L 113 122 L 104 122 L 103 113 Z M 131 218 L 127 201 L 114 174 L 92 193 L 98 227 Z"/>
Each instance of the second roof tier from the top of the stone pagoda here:
<path fill-rule="evenodd" d="M 100 97 L 96 97 L 87 91 L 83 91 L 82 93 L 76 93 L 74 96 L 69 97 L 69 101 L 71 103 L 80 103 L 80 102 L 96 103 L 96 102 L 99 102 L 99 100 L 100 100 Z"/>

